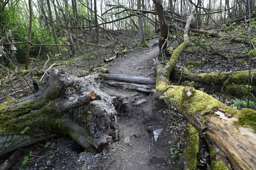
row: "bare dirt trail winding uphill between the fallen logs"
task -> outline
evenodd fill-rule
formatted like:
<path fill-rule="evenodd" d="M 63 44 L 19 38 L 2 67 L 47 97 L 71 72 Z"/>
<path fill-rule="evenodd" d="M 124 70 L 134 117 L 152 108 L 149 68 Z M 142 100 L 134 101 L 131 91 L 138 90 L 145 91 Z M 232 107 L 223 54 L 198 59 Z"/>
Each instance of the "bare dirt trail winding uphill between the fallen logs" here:
<path fill-rule="evenodd" d="M 151 46 L 157 41 L 158 39 L 154 39 L 149 43 L 150 49 L 130 54 L 126 58 L 118 58 L 110 63 L 108 66 L 110 74 L 154 77 L 152 58 L 157 56 L 159 48 Z M 152 88 L 154 89 L 154 85 Z M 110 151 L 110 156 L 99 159 L 97 169 L 181 168 L 180 157 L 177 156 L 176 160 L 169 159 L 172 145 L 169 145 L 168 141 L 177 144 L 176 141 L 184 139 L 184 133 L 181 134 L 186 127 L 184 122 L 177 122 L 176 116 L 163 103 L 155 100 L 152 94 L 104 83 L 101 90 L 118 98 L 117 123 L 113 123 L 113 128 L 118 129 L 118 141 L 106 147 Z M 137 101 L 142 99 L 147 101 L 137 104 Z M 172 126 L 172 122 L 177 122 L 178 125 Z M 153 130 L 163 129 L 156 142 L 153 139 L 153 132 L 148 132 L 148 126 L 155 126 Z M 136 134 L 139 138 L 135 137 Z M 177 135 L 180 138 L 177 138 Z M 183 141 L 181 143 L 183 144 Z"/>

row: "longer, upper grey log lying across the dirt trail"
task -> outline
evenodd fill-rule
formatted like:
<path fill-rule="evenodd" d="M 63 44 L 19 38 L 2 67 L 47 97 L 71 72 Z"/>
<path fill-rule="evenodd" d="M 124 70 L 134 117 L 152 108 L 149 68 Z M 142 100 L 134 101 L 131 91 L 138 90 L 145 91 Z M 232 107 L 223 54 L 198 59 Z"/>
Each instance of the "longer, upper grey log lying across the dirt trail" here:
<path fill-rule="evenodd" d="M 98 74 L 98 76 L 107 80 L 118 80 L 139 84 L 155 84 L 156 81 L 155 79 L 147 77 L 132 77 L 118 74 Z"/>

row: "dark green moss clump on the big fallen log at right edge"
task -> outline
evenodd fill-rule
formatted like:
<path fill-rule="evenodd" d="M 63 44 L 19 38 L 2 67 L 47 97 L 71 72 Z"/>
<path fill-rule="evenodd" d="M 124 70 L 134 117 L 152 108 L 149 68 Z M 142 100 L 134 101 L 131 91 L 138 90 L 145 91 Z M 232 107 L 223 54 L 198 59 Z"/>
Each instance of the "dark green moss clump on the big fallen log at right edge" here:
<path fill-rule="evenodd" d="M 256 133 L 256 111 L 244 108 L 238 113 L 237 118 L 238 121 L 235 121 L 234 124 L 243 127 L 249 126 Z"/>

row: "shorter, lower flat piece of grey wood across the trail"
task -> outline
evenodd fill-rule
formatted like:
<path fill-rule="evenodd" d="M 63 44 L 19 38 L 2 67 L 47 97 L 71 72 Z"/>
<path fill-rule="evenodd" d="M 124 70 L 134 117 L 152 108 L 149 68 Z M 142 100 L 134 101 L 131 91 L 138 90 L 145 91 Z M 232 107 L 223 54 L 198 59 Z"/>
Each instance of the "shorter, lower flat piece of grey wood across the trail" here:
<path fill-rule="evenodd" d="M 152 87 L 149 87 L 147 85 L 139 85 L 139 84 L 134 84 L 134 83 L 125 83 L 125 82 L 114 82 L 114 81 L 107 81 L 109 85 L 114 85 L 114 86 L 119 86 L 119 87 L 124 87 L 128 89 L 135 89 L 138 91 L 142 91 L 145 93 L 151 93 L 152 92 Z"/>

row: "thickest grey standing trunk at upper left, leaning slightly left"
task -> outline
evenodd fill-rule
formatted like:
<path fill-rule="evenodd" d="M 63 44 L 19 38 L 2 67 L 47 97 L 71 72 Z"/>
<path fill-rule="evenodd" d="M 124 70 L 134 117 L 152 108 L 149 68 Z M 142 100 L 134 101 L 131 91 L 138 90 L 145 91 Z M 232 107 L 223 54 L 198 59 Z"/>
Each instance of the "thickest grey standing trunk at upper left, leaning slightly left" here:
<path fill-rule="evenodd" d="M 65 13 L 66 13 L 66 25 L 67 25 L 67 32 L 68 32 L 68 43 L 69 44 L 74 44 L 73 43 L 73 38 L 72 38 L 72 33 L 71 33 L 71 29 L 70 29 L 70 15 L 69 15 L 69 9 L 68 9 L 68 0 L 64 0 L 65 3 Z M 75 55 L 75 47 L 74 45 L 69 46 L 70 48 L 70 55 L 73 56 Z"/>

